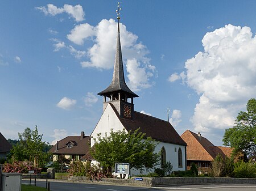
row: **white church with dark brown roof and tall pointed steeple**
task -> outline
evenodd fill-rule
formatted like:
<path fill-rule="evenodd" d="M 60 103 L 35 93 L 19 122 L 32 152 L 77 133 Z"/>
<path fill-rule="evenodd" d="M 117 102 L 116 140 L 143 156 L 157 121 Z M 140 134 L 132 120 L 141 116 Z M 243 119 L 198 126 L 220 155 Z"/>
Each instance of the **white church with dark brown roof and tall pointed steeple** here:
<path fill-rule="evenodd" d="M 90 135 L 91 147 L 94 145 L 93 138 L 97 138 L 98 133 L 104 135 L 105 133 L 110 133 L 111 129 L 114 131 L 125 129 L 128 132 L 140 128 L 140 131 L 145 133 L 146 137 L 152 137 L 158 142 L 155 152 L 160 152 L 161 159 L 160 164 L 155 168 L 161 168 L 166 162 L 171 162 L 173 171 L 185 171 L 187 166 L 187 144 L 170 122 L 134 111 L 134 99 L 138 95 L 131 91 L 125 82 L 119 31 L 119 14 L 117 19 L 117 47 L 113 78 L 109 87 L 98 93 L 98 95 L 103 97 L 103 113 Z M 92 162 L 95 163 L 95 161 Z M 131 169 L 131 175 L 137 174 L 137 171 Z"/>

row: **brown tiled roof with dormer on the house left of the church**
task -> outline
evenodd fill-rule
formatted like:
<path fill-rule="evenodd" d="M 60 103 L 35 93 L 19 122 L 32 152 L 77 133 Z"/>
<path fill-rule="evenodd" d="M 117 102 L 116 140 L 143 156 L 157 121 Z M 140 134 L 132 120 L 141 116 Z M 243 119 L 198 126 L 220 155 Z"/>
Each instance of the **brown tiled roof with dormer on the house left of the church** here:
<path fill-rule="evenodd" d="M 85 136 L 68 136 L 59 141 L 59 149 L 56 150 L 57 143 L 49 150 L 52 154 L 66 154 L 66 155 L 85 155 L 89 151 L 90 137 Z M 67 143 L 76 143 L 73 147 L 68 148 Z"/>

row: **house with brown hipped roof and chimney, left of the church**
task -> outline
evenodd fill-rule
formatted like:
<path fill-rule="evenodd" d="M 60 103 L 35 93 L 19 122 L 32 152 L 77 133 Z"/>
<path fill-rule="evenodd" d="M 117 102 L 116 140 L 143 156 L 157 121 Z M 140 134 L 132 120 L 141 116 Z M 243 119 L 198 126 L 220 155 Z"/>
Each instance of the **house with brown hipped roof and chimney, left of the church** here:
<path fill-rule="evenodd" d="M 56 161 L 60 155 L 71 161 L 80 160 L 90 148 L 90 137 L 85 136 L 84 131 L 80 136 L 68 136 L 57 143 L 49 150 L 53 154 L 53 161 Z"/>

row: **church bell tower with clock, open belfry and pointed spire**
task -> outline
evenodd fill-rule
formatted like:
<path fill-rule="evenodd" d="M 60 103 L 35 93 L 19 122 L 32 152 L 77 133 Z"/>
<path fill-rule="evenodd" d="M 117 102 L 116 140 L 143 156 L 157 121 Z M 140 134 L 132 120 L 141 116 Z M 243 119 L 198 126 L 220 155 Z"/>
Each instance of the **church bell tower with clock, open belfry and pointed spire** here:
<path fill-rule="evenodd" d="M 106 108 L 108 103 L 112 103 L 117 109 L 119 116 L 127 119 L 133 120 L 134 113 L 134 97 L 138 97 L 137 94 L 134 94 L 133 91 L 125 83 L 125 75 L 123 73 L 123 60 L 122 60 L 122 50 L 121 50 L 121 41 L 120 41 L 120 11 L 121 7 L 118 3 L 117 6 L 117 19 L 118 19 L 118 28 L 117 28 L 117 48 L 115 52 L 115 62 L 114 62 L 114 71 L 112 82 L 109 87 L 105 90 L 98 93 L 104 97 L 103 102 L 103 111 Z M 108 100 L 107 100 L 108 99 Z"/>

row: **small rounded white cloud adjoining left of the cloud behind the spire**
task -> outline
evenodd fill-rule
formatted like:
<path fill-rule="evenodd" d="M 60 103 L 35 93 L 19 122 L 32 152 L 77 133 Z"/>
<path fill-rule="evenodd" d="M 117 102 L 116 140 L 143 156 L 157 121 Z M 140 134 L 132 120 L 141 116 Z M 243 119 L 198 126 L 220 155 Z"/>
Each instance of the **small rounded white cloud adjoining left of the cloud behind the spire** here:
<path fill-rule="evenodd" d="M 68 40 L 77 45 L 84 44 L 84 40 L 95 35 L 94 27 L 88 23 L 80 24 L 71 30 L 67 35 Z"/>

